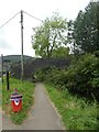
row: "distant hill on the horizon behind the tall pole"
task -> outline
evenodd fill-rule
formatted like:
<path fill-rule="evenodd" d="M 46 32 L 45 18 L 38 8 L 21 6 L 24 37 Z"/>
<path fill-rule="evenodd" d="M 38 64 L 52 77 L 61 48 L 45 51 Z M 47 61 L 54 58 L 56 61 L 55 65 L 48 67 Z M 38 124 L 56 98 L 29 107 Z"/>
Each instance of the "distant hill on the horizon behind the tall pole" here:
<path fill-rule="evenodd" d="M 23 56 L 24 61 L 28 61 L 30 58 L 32 58 L 32 56 L 26 56 L 26 55 Z M 7 55 L 7 56 L 3 56 L 3 62 L 4 63 L 19 63 L 19 62 L 21 62 L 21 55 Z"/>

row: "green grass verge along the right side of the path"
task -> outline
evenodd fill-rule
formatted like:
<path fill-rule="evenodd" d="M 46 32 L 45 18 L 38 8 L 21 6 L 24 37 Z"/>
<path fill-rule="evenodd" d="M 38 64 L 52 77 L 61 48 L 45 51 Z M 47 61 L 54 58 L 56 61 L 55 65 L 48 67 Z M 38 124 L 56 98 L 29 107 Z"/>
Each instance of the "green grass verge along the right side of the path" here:
<path fill-rule="evenodd" d="M 72 96 L 68 90 L 61 91 L 45 84 L 47 92 L 54 102 L 66 130 L 96 130 L 97 103 L 86 103 L 82 99 Z"/>

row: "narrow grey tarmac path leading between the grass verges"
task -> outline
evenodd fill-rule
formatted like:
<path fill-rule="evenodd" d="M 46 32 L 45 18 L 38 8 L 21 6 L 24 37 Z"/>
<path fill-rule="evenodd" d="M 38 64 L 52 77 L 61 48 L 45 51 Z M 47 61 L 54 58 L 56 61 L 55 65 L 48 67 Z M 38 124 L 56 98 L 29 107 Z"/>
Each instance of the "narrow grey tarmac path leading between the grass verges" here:
<path fill-rule="evenodd" d="M 34 106 L 29 117 L 21 125 L 12 124 L 3 117 L 3 130 L 63 130 L 61 117 L 52 106 L 43 84 L 36 84 L 34 92 Z"/>

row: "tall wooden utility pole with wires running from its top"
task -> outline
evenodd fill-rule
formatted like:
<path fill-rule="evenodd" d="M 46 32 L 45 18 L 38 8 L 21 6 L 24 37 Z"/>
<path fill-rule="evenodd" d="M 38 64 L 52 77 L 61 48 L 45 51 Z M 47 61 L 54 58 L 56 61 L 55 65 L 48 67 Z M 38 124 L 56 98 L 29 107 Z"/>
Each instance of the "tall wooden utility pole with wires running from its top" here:
<path fill-rule="evenodd" d="M 23 11 L 21 10 L 21 80 L 23 81 L 24 66 L 23 66 Z"/>

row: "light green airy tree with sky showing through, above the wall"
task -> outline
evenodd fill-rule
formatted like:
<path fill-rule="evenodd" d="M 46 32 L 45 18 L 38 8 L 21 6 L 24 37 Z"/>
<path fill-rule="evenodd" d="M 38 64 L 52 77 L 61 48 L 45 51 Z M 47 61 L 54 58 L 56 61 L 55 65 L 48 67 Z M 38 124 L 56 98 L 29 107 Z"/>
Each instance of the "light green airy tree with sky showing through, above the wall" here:
<path fill-rule="evenodd" d="M 32 45 L 35 54 L 52 57 L 53 51 L 67 44 L 66 29 L 67 22 L 58 13 L 54 13 L 41 26 L 33 29 Z"/>

